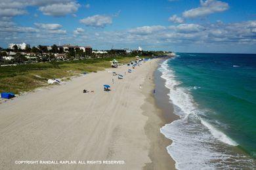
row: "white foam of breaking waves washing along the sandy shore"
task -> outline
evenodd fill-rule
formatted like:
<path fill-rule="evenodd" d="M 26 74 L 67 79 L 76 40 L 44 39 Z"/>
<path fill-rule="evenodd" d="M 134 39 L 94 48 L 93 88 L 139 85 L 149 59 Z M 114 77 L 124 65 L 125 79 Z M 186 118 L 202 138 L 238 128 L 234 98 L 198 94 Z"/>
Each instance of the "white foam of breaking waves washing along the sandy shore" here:
<path fill-rule="evenodd" d="M 179 86 L 181 82 L 176 80 L 175 72 L 169 69 L 167 60 L 161 64 L 159 70 L 162 73 L 161 78 L 166 80 L 165 86 L 170 90 L 168 95 L 174 105 L 175 114 L 181 117 L 160 129 L 165 137 L 173 141 L 167 146 L 167 151 L 176 161 L 176 168 L 232 168 L 232 164 L 225 162 L 230 159 L 240 160 L 240 157 L 234 158 L 232 153 L 222 148 L 221 151 L 217 150 L 217 146 L 229 147 L 238 144 L 206 120 L 202 120 L 200 115 L 205 110 L 198 109 L 189 90 Z"/>

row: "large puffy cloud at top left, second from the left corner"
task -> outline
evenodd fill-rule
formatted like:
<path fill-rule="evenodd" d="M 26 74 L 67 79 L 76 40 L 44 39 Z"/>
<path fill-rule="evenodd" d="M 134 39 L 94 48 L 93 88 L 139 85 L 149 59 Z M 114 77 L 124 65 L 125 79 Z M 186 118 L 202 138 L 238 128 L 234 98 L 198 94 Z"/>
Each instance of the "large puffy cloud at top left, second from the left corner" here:
<path fill-rule="evenodd" d="M 77 9 L 80 7 L 78 3 L 58 3 L 53 5 L 47 5 L 44 7 L 39 7 L 39 10 L 45 15 L 50 16 L 65 16 L 66 14 L 72 14 L 77 12 Z"/>

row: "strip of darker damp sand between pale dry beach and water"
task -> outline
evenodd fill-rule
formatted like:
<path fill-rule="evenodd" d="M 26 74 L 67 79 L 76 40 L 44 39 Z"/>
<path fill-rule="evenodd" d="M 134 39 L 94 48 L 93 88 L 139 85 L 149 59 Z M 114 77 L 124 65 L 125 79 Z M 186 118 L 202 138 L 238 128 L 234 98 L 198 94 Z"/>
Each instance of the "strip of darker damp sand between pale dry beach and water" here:
<path fill-rule="evenodd" d="M 148 156 L 152 160 L 151 163 L 146 163 L 143 169 L 175 169 L 175 161 L 169 156 L 166 149 L 171 140 L 165 138 L 160 132 L 160 128 L 169 120 L 165 118 L 166 112 L 158 107 L 157 99 L 155 94 L 153 94 L 153 90 L 158 88 L 158 83 L 155 82 L 155 73 L 159 63 L 160 61 L 157 62 L 153 73 L 148 75 L 144 84 L 142 84 L 142 93 L 146 99 L 144 99 L 144 104 L 141 108 L 144 111 L 142 114 L 148 117 L 144 130 L 148 139 L 150 139 L 150 152 Z"/>

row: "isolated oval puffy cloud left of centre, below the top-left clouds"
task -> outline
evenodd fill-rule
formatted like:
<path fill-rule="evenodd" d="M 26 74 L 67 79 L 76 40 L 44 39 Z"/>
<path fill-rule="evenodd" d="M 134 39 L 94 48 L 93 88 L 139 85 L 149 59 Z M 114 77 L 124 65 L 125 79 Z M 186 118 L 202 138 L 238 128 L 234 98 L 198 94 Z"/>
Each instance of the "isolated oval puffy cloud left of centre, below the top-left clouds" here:
<path fill-rule="evenodd" d="M 80 22 L 91 27 L 106 27 L 106 25 L 112 24 L 112 18 L 105 15 L 95 15 L 83 18 Z"/>

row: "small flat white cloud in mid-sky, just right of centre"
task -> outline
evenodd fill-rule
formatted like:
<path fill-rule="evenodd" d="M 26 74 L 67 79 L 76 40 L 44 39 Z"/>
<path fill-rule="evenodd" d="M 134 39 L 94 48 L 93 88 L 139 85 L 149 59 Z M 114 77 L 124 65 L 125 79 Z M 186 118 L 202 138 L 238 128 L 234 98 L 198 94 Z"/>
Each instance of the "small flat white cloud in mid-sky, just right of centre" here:
<path fill-rule="evenodd" d="M 156 33 L 157 31 L 163 31 L 164 29 L 166 28 L 161 25 L 144 26 L 144 27 L 137 27 L 135 29 L 130 29 L 129 33 L 137 34 L 137 35 L 148 35 L 148 34 Z"/>

